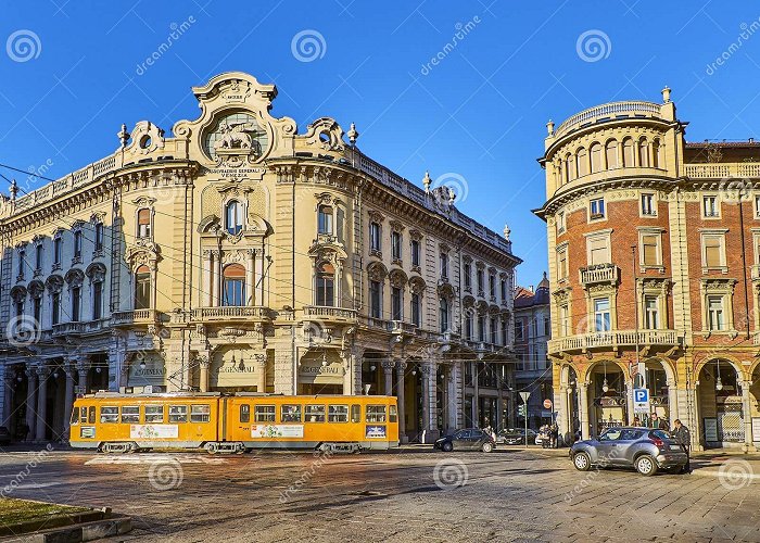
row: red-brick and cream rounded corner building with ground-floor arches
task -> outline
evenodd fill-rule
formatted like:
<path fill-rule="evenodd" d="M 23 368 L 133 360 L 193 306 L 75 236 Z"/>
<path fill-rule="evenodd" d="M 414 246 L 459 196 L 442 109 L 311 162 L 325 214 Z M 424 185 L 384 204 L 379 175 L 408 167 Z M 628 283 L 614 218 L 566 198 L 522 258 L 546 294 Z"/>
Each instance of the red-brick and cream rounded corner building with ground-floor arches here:
<path fill-rule="evenodd" d="M 698 449 L 760 443 L 760 144 L 687 142 L 687 124 L 668 88 L 547 124 L 535 213 L 566 434 L 657 414 Z"/>

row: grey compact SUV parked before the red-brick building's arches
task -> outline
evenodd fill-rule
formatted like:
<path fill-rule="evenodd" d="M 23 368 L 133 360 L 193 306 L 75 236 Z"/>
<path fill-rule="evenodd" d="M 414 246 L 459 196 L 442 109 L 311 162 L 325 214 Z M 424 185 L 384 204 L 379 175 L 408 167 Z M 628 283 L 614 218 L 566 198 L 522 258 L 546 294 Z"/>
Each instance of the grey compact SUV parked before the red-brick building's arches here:
<path fill-rule="evenodd" d="M 686 465 L 686 452 L 670 433 L 634 427 L 610 428 L 598 439 L 573 443 L 570 458 L 580 471 L 592 466 L 622 466 L 644 476 L 660 469 L 681 471 Z"/>

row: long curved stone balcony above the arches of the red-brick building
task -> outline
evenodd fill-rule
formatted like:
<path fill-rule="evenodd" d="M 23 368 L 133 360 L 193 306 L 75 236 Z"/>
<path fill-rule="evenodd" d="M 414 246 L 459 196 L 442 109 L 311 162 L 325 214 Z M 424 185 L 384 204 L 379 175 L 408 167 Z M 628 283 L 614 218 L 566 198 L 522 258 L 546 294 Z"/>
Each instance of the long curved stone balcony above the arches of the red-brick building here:
<path fill-rule="evenodd" d="M 590 332 L 549 340 L 548 352 L 561 353 L 588 349 L 617 350 L 619 346 L 679 346 L 681 338 L 675 330 L 613 330 Z"/>

